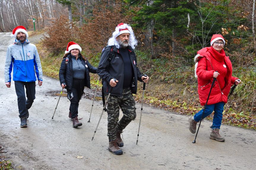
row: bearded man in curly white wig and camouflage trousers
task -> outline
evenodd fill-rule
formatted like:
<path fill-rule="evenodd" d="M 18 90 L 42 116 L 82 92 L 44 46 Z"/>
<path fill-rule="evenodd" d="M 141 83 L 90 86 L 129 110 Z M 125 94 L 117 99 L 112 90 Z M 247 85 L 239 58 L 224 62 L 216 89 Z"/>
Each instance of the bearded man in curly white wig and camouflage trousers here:
<path fill-rule="evenodd" d="M 103 80 L 105 95 L 109 94 L 108 113 L 108 137 L 109 151 L 116 155 L 123 154 L 123 140 L 120 134 L 123 129 L 135 119 L 135 100 L 132 94 L 137 93 L 137 82 L 147 82 L 137 67 L 137 59 L 134 48 L 137 41 L 130 25 L 120 23 L 115 28 L 113 37 L 108 41 L 108 47 L 101 54 L 97 74 Z M 109 57 L 112 56 L 112 57 Z M 116 78 L 116 82 L 114 81 Z M 123 111 L 123 117 L 119 118 L 119 107 Z"/>

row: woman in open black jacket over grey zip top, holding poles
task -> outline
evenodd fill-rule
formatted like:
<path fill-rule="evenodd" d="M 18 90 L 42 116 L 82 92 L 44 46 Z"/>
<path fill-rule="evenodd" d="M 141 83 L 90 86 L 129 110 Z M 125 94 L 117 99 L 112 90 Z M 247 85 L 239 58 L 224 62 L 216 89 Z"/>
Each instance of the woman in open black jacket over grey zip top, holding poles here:
<path fill-rule="evenodd" d="M 89 72 L 97 72 L 97 68 L 89 63 L 81 51 L 82 48 L 77 43 L 69 42 L 59 71 L 61 87 L 66 88 L 68 92 L 68 99 L 70 100 L 69 118 L 73 121 L 73 127 L 82 125 L 77 118 L 79 101 L 85 86 L 90 88 Z"/>

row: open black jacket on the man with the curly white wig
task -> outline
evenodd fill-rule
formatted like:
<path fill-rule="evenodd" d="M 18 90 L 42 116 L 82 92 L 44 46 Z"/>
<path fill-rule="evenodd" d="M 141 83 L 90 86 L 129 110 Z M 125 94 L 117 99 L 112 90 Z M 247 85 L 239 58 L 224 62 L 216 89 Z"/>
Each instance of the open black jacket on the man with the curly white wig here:
<path fill-rule="evenodd" d="M 113 49 L 112 49 L 113 48 Z M 133 67 L 132 77 L 135 80 L 135 87 L 132 88 L 132 93 L 137 93 L 137 82 L 138 80 L 142 82 L 141 77 L 143 76 L 137 67 L 137 59 L 133 49 L 128 46 L 129 56 L 131 60 L 131 64 Z M 109 62 L 110 51 L 114 51 L 114 56 Z M 109 46 L 104 49 L 101 54 L 101 59 L 98 65 L 97 74 L 103 80 L 103 89 L 104 93 L 108 94 L 110 85 L 109 82 L 112 78 L 116 78 L 118 80 L 117 85 L 112 89 L 111 95 L 122 96 L 123 95 L 123 81 L 124 81 L 124 61 L 121 54 L 118 52 L 118 48 L 116 46 Z M 133 82 L 133 80 L 131 80 Z"/>

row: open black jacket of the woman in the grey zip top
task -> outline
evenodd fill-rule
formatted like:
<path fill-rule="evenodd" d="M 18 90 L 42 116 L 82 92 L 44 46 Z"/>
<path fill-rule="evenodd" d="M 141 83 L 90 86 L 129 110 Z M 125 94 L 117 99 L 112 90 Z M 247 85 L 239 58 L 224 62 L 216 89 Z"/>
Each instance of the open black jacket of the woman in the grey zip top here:
<path fill-rule="evenodd" d="M 68 59 L 68 63 L 66 64 L 66 58 L 64 58 L 61 62 L 61 68 L 60 68 L 60 72 L 59 72 L 59 78 L 60 78 L 60 82 L 61 84 L 66 83 L 66 89 L 71 90 L 72 88 L 72 82 L 73 82 L 73 71 L 72 71 L 72 59 L 71 59 L 71 54 L 69 54 L 67 56 Z M 82 59 L 82 56 L 79 55 L 79 58 L 82 61 L 82 64 L 87 65 L 88 67 L 85 67 L 85 86 L 90 88 L 91 84 L 90 84 L 90 75 L 89 72 L 91 73 L 97 73 L 97 68 L 93 67 L 89 61 L 86 59 L 86 61 L 84 59 Z"/>

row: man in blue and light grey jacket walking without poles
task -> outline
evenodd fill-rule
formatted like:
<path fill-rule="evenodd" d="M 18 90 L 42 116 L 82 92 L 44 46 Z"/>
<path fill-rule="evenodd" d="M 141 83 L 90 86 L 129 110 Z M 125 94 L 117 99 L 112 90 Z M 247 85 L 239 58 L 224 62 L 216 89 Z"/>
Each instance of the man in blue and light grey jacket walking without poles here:
<path fill-rule="evenodd" d="M 27 127 L 28 109 L 31 108 L 36 98 L 36 77 L 38 85 L 41 86 L 43 72 L 36 46 L 27 39 L 28 32 L 26 28 L 23 26 L 14 28 L 11 37 L 15 38 L 15 41 L 7 49 L 4 80 L 7 88 L 10 88 L 13 69 L 13 81 L 18 96 L 20 127 Z"/>

